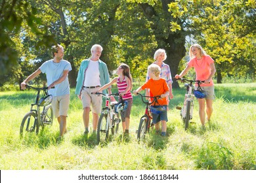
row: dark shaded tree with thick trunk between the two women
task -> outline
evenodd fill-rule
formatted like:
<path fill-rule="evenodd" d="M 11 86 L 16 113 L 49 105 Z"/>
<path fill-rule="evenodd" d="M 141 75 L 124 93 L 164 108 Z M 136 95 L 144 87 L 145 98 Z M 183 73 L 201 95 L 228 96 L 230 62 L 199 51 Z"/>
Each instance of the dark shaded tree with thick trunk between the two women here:
<path fill-rule="evenodd" d="M 167 53 L 165 63 L 169 64 L 171 74 L 175 76 L 179 63 L 186 54 L 184 44 L 187 33 L 184 30 L 184 22 L 169 12 L 169 4 L 173 2 L 171 0 L 139 2 L 141 2 L 139 6 L 144 12 L 144 16 L 150 22 L 158 48 L 165 49 Z M 179 84 L 173 82 L 173 87 L 177 88 Z"/>

